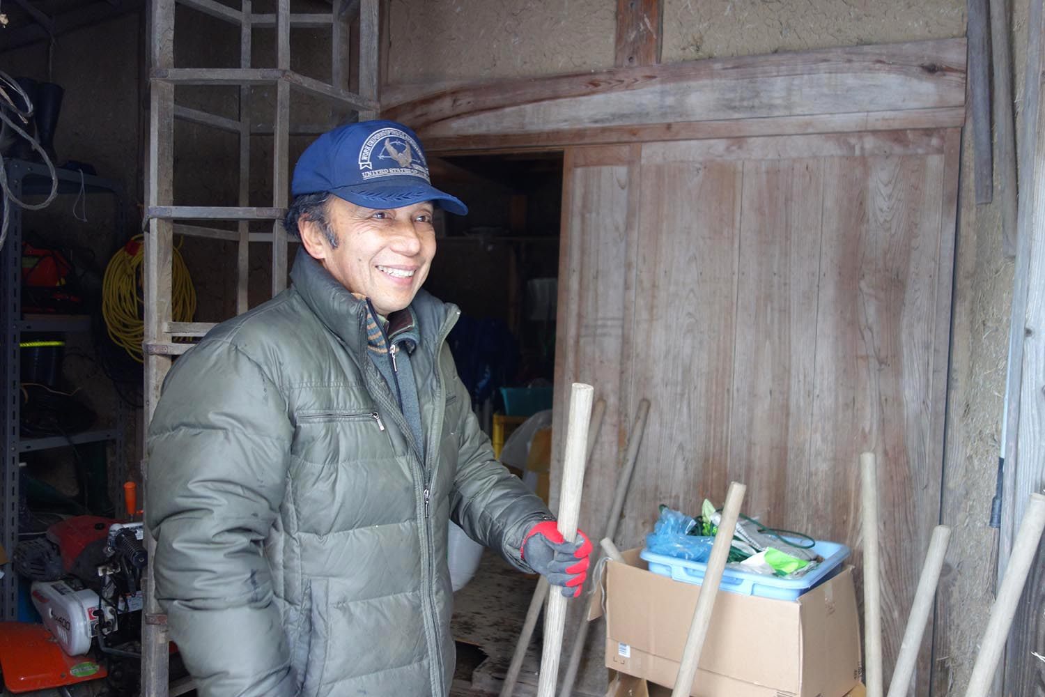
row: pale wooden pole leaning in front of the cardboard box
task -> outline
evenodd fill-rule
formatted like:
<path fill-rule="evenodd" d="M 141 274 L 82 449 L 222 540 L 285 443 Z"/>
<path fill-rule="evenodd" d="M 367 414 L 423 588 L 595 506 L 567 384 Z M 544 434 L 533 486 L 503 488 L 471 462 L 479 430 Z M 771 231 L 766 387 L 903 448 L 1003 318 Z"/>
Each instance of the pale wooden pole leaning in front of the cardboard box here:
<path fill-rule="evenodd" d="M 740 505 L 744 501 L 745 491 L 747 491 L 746 486 L 733 482 L 725 494 L 722 519 L 719 521 L 718 532 L 715 533 L 715 543 L 712 544 L 712 554 L 704 571 L 704 582 L 700 584 L 700 597 L 697 598 L 697 607 L 693 611 L 693 622 L 686 637 L 682 663 L 678 667 L 671 697 L 689 697 L 693 687 L 693 677 L 697 674 L 697 664 L 700 661 L 700 652 L 704 648 L 707 627 L 712 622 L 715 597 L 718 595 L 719 583 L 722 582 L 725 561 L 729 557 L 729 545 L 733 544 L 733 533 L 737 529 L 737 518 L 740 516 Z"/>

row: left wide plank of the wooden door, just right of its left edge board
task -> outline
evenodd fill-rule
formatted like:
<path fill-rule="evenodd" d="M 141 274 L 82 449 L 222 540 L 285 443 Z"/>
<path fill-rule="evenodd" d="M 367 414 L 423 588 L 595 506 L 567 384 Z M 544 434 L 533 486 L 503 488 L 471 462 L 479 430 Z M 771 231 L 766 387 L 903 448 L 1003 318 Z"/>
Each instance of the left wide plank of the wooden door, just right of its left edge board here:
<path fill-rule="evenodd" d="M 663 163 L 643 150 L 636 249 L 636 397 L 649 396 L 643 478 L 621 540 L 638 543 L 657 505 L 694 510 L 727 482 L 742 165 Z"/>

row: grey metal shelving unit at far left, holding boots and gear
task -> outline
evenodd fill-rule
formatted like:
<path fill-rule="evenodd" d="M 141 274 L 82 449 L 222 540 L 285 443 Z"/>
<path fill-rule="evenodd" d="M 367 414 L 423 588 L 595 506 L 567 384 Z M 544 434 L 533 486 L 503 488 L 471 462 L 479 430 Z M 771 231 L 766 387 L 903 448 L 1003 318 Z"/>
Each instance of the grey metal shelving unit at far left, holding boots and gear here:
<path fill-rule="evenodd" d="M 23 196 L 46 196 L 50 192 L 51 178 L 43 164 L 24 162 L 21 160 L 4 161 L 7 184 L 11 193 Z M 60 194 L 104 193 L 116 200 L 116 225 L 123 223 L 123 194 L 120 185 L 112 180 L 79 171 L 55 169 L 59 179 Z M 6 205 L 0 202 L 0 206 Z M 31 212 L 30 212 L 31 214 Z M 116 444 L 116 469 L 123 467 L 123 429 L 104 428 L 71 434 L 69 437 L 54 436 L 49 438 L 22 439 L 20 428 L 21 412 L 21 350 L 19 344 L 23 332 L 86 332 L 91 329 L 91 319 L 86 316 L 22 317 L 22 223 L 25 212 L 13 206 L 10 223 L 7 229 L 7 239 L 0 251 L 0 353 L 2 362 L 2 385 L 0 385 L 0 400 L 3 404 L 3 432 L 0 442 L 3 448 L 2 489 L 0 489 L 0 543 L 8 556 L 18 542 L 18 507 L 19 507 L 19 460 L 23 452 L 70 447 L 87 443 L 113 441 Z M 117 400 L 117 424 L 122 422 L 122 408 Z M 0 579 L 0 620 L 18 619 L 18 577 L 7 570 Z"/>

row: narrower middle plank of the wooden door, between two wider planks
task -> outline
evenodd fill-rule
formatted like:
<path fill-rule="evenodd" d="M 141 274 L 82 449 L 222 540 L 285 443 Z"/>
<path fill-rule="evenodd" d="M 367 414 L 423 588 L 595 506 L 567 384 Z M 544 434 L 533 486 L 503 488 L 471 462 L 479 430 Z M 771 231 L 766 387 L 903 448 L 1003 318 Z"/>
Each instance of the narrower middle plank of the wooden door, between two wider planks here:
<path fill-rule="evenodd" d="M 747 515 L 806 526 L 822 163 L 744 163 L 729 479 Z M 813 321 L 811 321 L 811 318 Z"/>

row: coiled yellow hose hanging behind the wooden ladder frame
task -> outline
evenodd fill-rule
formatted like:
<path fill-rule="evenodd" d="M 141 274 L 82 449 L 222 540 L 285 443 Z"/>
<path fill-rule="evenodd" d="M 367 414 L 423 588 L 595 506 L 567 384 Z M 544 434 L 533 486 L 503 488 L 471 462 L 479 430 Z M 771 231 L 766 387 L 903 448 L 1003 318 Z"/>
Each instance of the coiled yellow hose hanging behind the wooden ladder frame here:
<path fill-rule="evenodd" d="M 101 316 L 106 320 L 109 338 L 138 363 L 142 363 L 144 341 L 141 291 L 143 239 L 142 235 L 133 237 L 113 255 L 101 283 Z M 171 317 L 175 322 L 190 322 L 195 312 L 195 288 L 178 248 L 172 252 Z"/>

